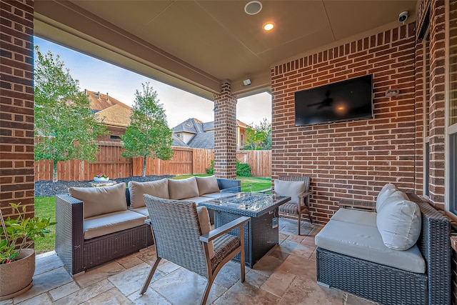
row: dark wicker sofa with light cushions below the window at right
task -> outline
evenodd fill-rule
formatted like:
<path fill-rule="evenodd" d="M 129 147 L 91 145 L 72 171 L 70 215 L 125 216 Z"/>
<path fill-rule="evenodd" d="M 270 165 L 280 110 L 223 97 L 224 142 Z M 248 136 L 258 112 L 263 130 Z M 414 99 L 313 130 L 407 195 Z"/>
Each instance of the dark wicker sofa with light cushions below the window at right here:
<path fill-rule="evenodd" d="M 377 213 L 339 209 L 333 214 L 316 235 L 318 284 L 384 305 L 451 304 L 450 221 L 415 194 L 403 194 L 406 200 L 397 202 L 401 209 L 394 206 L 390 215 L 379 202 Z M 404 209 L 405 203 L 414 211 Z M 366 209 L 367 204 L 348 206 Z M 418 224 L 408 226 L 403 236 L 395 221 L 411 211 L 408 220 Z"/>

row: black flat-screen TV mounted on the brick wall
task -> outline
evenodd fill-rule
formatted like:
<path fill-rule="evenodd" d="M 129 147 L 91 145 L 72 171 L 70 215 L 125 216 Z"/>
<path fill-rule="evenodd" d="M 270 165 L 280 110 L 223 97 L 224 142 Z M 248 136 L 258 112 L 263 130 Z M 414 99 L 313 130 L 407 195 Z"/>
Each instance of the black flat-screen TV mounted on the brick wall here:
<path fill-rule="evenodd" d="M 373 118 L 373 75 L 297 91 L 295 126 Z"/>

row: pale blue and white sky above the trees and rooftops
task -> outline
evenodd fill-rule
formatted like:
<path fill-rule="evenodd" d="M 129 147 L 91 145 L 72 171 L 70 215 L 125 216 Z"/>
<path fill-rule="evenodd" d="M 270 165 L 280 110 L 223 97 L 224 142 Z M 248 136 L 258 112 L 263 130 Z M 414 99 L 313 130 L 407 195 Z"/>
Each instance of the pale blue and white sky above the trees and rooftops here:
<path fill-rule="evenodd" d="M 51 51 L 54 56 L 60 56 L 73 79 L 79 81 L 81 91 L 88 89 L 100 91 L 102 94 L 108 93 L 114 99 L 132 106 L 136 90 L 142 91 L 141 84 L 150 82 L 157 91 L 159 103 L 164 106 L 169 127 L 173 128 L 189 118 L 204 122 L 214 121 L 213 101 L 36 36 L 34 43 L 39 45 L 41 53 L 46 54 Z M 258 125 L 263 118 L 271 122 L 270 94 L 264 92 L 238 99 L 236 119 L 246 124 Z"/>

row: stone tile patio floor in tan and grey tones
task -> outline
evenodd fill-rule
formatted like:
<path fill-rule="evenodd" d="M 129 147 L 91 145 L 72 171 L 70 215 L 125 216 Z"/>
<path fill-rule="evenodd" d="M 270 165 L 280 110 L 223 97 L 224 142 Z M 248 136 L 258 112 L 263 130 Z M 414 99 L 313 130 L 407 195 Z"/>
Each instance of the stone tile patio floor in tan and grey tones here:
<path fill-rule="evenodd" d="M 230 261 L 219 272 L 208 304 L 375 304 L 316 284 L 314 236 L 321 226 L 279 219 L 279 242 L 239 280 L 239 264 Z M 155 261 L 154 246 L 75 276 L 53 252 L 36 259 L 34 286 L 6 304 L 199 304 L 206 279 L 176 264 L 161 261 L 149 289 L 139 289 Z"/>

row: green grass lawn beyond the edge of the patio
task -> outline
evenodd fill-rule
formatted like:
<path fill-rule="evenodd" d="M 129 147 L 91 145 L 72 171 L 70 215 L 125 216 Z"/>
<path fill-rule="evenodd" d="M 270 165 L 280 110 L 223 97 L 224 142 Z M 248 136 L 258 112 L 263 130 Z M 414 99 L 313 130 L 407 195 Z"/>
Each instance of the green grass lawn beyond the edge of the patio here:
<path fill-rule="evenodd" d="M 181 175 L 175 176 L 173 179 L 186 179 L 191 176 L 211 176 L 209 174 L 196 175 Z M 271 187 L 271 178 L 261 177 L 241 177 L 236 179 L 241 180 L 241 191 L 261 191 Z M 250 186 L 251 185 L 251 186 Z M 35 198 L 35 216 L 40 218 L 51 218 L 51 221 L 56 221 L 56 197 L 36 197 Z M 51 233 L 40 237 L 35 241 L 36 254 L 54 250 L 56 243 L 56 226 L 50 227 Z"/>

